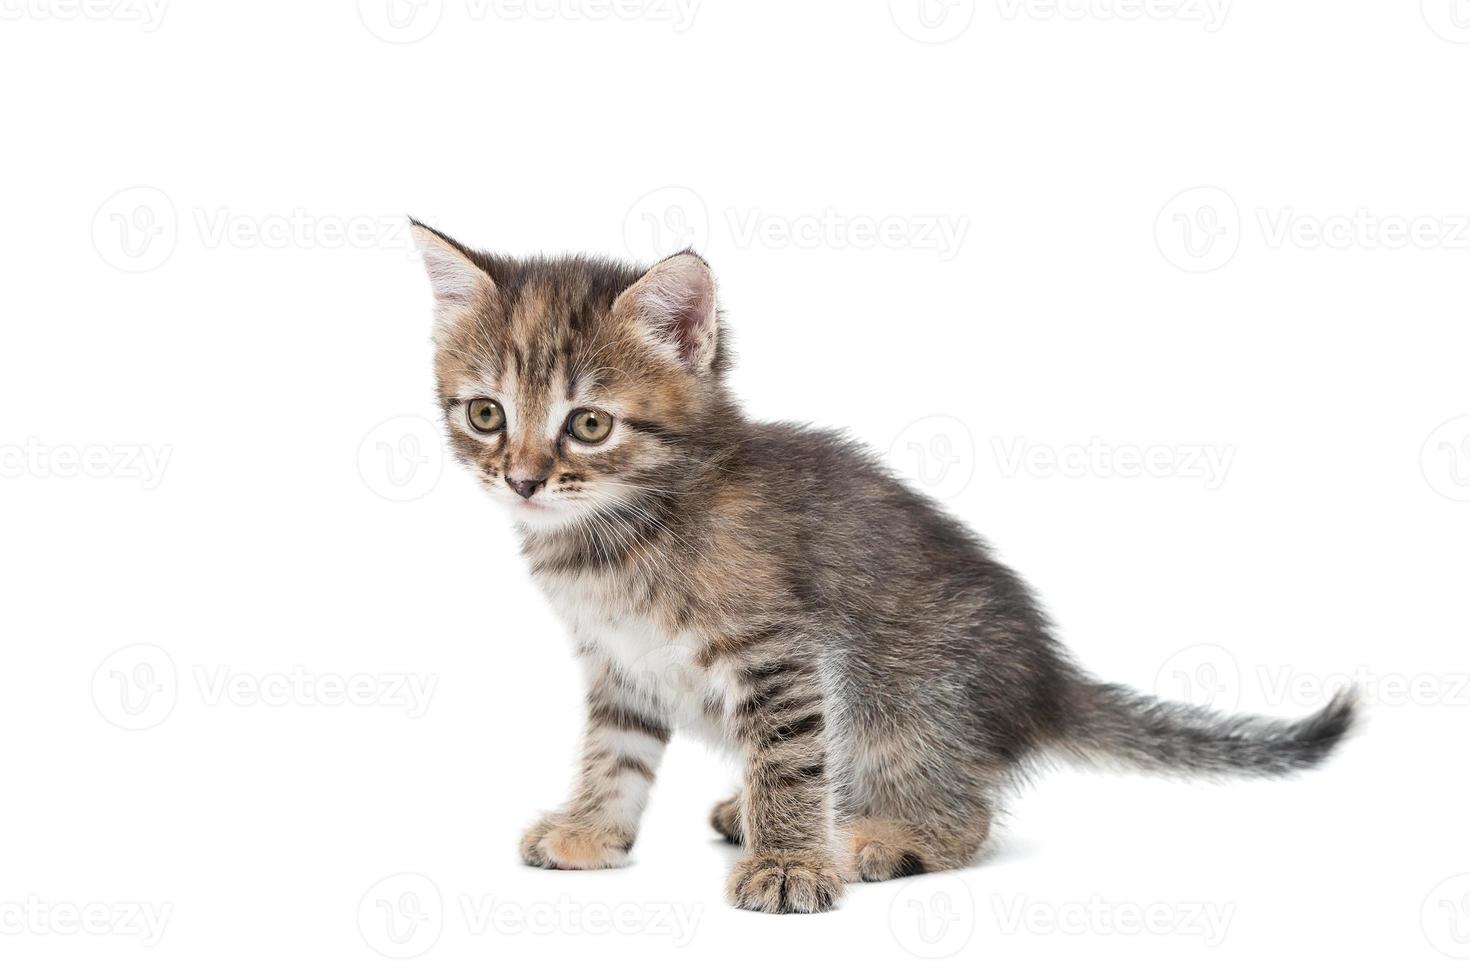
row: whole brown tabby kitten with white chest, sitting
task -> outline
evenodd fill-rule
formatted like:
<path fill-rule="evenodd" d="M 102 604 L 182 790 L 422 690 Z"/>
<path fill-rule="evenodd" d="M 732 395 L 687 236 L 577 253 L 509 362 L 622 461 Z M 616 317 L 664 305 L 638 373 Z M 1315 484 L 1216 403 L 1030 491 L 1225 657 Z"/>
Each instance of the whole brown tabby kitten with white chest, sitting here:
<path fill-rule="evenodd" d="M 415 222 L 454 454 L 506 507 L 587 673 L 581 776 L 525 835 L 622 864 L 672 732 L 738 751 L 713 824 L 729 901 L 819 912 L 844 882 L 963 867 L 1044 755 L 1279 776 L 1348 732 L 1098 683 L 1022 580 L 845 438 L 745 419 L 694 253 L 513 260 Z"/>

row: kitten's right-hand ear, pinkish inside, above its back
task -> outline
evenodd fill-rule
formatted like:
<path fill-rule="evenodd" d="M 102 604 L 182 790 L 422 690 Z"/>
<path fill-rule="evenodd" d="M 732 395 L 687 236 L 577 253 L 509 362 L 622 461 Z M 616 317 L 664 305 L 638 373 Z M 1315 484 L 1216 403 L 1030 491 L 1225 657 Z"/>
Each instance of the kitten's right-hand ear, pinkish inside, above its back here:
<path fill-rule="evenodd" d="M 623 289 L 613 316 L 635 322 L 654 347 L 689 370 L 703 373 L 714 363 L 714 275 L 692 251 L 664 259 Z"/>

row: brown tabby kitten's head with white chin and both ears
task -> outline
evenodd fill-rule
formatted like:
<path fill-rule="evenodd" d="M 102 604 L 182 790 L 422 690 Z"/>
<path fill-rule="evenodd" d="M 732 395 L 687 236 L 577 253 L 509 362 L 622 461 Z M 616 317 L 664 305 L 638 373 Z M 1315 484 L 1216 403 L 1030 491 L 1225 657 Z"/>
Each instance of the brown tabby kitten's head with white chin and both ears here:
<path fill-rule="evenodd" d="M 523 529 L 678 492 L 728 410 L 714 278 L 694 253 L 651 269 L 512 260 L 415 222 L 434 288 L 450 444 Z"/>

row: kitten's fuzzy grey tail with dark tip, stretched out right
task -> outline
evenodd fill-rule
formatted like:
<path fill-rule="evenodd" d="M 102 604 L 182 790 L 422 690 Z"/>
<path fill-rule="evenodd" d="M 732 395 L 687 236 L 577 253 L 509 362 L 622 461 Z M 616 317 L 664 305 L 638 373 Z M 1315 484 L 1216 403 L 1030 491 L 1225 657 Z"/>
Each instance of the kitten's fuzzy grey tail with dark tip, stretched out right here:
<path fill-rule="evenodd" d="M 1298 721 L 1229 716 L 1122 685 L 1070 685 L 1060 748 L 1088 763 L 1185 776 L 1285 776 L 1311 768 L 1352 729 L 1357 691 Z"/>

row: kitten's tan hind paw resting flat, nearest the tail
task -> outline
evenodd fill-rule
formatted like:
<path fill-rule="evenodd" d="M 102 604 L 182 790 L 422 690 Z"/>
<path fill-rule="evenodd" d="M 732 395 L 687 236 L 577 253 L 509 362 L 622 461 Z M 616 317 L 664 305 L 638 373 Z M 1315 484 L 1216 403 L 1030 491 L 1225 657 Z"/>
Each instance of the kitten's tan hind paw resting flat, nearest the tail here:
<path fill-rule="evenodd" d="M 853 871 L 861 882 L 926 871 L 963 868 L 975 860 L 991 830 L 991 810 L 980 804 L 973 813 L 948 814 L 942 824 L 860 817 L 842 824 L 853 851 Z"/>

